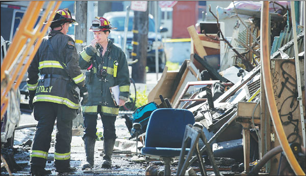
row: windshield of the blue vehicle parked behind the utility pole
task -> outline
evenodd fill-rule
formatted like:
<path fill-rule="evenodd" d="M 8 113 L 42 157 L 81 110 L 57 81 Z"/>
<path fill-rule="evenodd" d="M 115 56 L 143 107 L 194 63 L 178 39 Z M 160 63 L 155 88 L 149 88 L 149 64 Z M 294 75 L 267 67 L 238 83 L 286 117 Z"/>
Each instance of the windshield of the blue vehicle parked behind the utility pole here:
<path fill-rule="evenodd" d="M 133 17 L 130 17 L 129 20 L 129 31 L 132 31 L 133 29 Z M 124 22 L 125 22 L 125 17 L 124 16 L 119 16 L 119 17 L 112 17 L 109 19 L 111 25 L 113 27 L 117 27 L 116 31 L 124 31 Z M 155 26 L 154 26 L 154 20 L 149 18 L 149 32 L 155 32 Z"/>

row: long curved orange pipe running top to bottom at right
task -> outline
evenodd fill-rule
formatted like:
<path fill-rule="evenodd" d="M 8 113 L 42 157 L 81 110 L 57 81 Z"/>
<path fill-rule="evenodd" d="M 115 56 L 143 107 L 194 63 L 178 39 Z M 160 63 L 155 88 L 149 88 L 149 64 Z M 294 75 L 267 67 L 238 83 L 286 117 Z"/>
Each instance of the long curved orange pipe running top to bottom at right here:
<path fill-rule="evenodd" d="M 276 108 L 275 99 L 273 97 L 273 90 L 272 90 L 272 79 L 271 79 L 271 70 L 270 70 L 270 54 L 269 54 L 269 31 L 268 31 L 268 23 L 269 23 L 269 2 L 265 1 L 262 5 L 261 11 L 261 66 L 263 72 L 263 79 L 264 79 L 264 87 L 266 92 L 266 98 L 268 102 L 268 107 L 270 111 L 270 115 L 273 120 L 273 125 L 275 132 L 277 134 L 278 140 L 282 145 L 282 149 L 285 152 L 285 156 L 293 169 L 296 175 L 305 175 L 304 171 L 300 167 L 299 163 L 297 162 L 293 152 L 289 146 L 281 119 L 279 118 L 279 114 Z"/>

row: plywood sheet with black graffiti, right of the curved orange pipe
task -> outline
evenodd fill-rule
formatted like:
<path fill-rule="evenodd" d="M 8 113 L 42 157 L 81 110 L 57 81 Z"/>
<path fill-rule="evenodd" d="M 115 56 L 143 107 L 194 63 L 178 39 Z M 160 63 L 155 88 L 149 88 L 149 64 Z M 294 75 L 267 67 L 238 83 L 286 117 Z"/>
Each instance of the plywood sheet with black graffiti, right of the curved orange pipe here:
<path fill-rule="evenodd" d="M 271 69 L 271 76 L 279 118 L 281 118 L 289 143 L 302 143 L 295 62 L 283 59 L 272 59 L 271 61 L 275 62 L 275 68 Z"/>

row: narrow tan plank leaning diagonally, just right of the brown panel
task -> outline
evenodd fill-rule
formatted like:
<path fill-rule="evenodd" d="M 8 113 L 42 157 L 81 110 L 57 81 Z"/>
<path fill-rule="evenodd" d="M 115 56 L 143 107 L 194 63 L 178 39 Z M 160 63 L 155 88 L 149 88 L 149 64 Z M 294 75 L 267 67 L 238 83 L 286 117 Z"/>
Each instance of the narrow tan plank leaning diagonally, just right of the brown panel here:
<path fill-rule="evenodd" d="M 190 65 L 193 65 L 193 64 L 190 61 L 187 61 L 187 67 L 186 67 L 186 69 L 185 69 L 185 71 L 182 75 L 182 78 L 180 80 L 179 85 L 176 86 L 176 90 L 175 90 L 175 92 L 174 92 L 174 94 L 171 98 L 171 101 L 170 101 L 171 104 L 175 103 L 179 99 L 179 97 L 180 97 L 181 93 L 183 92 L 184 87 L 187 84 L 187 82 L 198 81 L 199 80 L 198 75 L 194 75 L 195 73 L 198 73 L 198 70 L 196 70 L 196 71 L 193 70 L 193 68 L 195 68 L 195 67 L 193 67 L 193 66 L 189 67 Z"/>

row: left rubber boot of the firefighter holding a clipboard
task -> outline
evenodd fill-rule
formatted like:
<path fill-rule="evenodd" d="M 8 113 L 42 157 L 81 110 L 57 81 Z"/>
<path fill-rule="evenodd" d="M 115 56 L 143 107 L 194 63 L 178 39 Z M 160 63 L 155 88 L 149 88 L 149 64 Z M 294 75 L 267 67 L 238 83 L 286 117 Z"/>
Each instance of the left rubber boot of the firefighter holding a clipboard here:
<path fill-rule="evenodd" d="M 95 145 L 95 138 L 86 136 L 84 138 L 85 144 L 85 152 L 86 152 L 86 162 L 82 166 L 82 170 L 86 168 L 92 168 L 94 164 L 94 145 Z"/>

